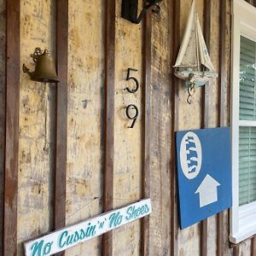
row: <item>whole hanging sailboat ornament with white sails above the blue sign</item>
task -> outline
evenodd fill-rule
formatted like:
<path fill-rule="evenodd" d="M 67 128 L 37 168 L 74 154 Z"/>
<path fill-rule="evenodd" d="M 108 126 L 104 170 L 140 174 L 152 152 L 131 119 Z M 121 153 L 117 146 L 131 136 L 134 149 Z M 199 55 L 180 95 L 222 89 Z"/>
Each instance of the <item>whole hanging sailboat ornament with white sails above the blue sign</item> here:
<path fill-rule="evenodd" d="M 196 88 L 218 77 L 201 31 L 199 18 L 195 10 L 195 0 L 193 0 L 191 6 L 183 42 L 173 67 L 175 76 L 186 81 L 185 84 L 189 92 L 187 102 L 189 104 Z"/>

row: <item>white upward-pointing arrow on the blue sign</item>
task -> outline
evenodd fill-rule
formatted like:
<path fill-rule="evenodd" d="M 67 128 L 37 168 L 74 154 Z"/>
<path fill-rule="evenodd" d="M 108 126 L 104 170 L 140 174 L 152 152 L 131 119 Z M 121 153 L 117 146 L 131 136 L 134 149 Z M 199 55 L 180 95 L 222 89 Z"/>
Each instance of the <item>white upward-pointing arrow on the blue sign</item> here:
<path fill-rule="evenodd" d="M 215 201 L 218 201 L 218 186 L 220 186 L 220 183 L 207 174 L 198 189 L 195 191 L 195 194 L 199 193 L 200 207 L 205 207 Z"/>

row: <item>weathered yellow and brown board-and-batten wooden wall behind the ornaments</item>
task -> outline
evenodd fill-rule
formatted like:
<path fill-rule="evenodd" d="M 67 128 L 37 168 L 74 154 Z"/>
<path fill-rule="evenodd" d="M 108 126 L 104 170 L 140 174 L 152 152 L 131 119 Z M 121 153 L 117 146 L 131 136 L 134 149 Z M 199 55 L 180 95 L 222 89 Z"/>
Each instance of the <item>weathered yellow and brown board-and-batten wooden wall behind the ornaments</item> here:
<path fill-rule="evenodd" d="M 139 25 L 120 18 L 121 0 L 8 2 L 0 0 L 0 255 L 23 255 L 24 241 L 148 196 L 149 218 L 65 255 L 256 255 L 255 238 L 230 245 L 228 211 L 186 230 L 177 215 L 175 131 L 230 125 L 231 0 L 196 1 L 219 76 L 191 105 L 172 65 L 192 0 L 163 1 Z M 36 47 L 55 57 L 60 84 L 22 73 Z M 129 67 L 135 94 L 124 90 L 134 86 Z M 129 104 L 139 111 L 133 129 Z"/>

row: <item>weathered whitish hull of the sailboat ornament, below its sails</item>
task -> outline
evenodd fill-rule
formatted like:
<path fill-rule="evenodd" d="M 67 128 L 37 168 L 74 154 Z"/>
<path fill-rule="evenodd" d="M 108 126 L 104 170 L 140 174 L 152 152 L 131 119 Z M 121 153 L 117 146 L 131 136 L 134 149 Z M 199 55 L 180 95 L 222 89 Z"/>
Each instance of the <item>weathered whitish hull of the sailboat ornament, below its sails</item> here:
<path fill-rule="evenodd" d="M 193 74 L 193 79 L 189 80 L 191 77 L 191 74 Z M 206 84 L 208 81 L 212 79 L 218 78 L 218 73 L 214 71 L 195 71 L 195 70 L 183 70 L 183 71 L 176 71 L 174 75 L 178 79 L 183 79 L 185 81 L 193 82 L 197 87 L 202 86 Z"/>

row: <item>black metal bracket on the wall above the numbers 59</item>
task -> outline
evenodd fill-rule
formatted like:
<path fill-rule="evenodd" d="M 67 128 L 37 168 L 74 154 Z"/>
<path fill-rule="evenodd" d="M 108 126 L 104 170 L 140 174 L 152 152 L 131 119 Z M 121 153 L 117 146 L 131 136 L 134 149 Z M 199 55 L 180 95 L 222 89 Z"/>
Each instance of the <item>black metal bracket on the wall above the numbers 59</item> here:
<path fill-rule="evenodd" d="M 139 24 L 146 15 L 148 9 L 152 9 L 155 14 L 160 13 L 160 6 L 158 3 L 163 0 L 147 0 L 147 4 L 143 7 L 140 15 L 137 16 L 138 0 L 122 0 L 122 18 L 130 20 L 132 23 Z"/>

